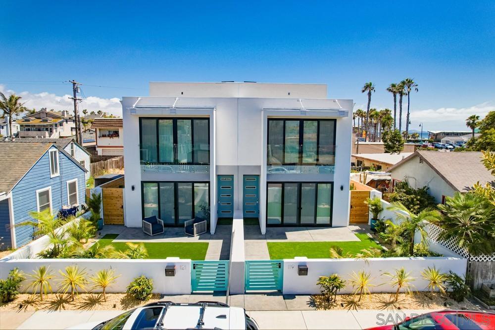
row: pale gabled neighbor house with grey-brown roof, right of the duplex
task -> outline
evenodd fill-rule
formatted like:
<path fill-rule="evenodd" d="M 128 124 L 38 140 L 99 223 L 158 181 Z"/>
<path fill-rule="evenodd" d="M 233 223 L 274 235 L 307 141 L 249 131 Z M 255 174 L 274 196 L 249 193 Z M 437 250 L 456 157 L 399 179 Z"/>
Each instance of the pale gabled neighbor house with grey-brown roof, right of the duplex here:
<path fill-rule="evenodd" d="M 438 203 L 456 191 L 467 192 L 479 182 L 481 185 L 495 182 L 490 171 L 482 163 L 482 153 L 416 151 L 392 166 L 393 191 L 398 182 L 407 181 L 414 189 L 427 186 L 428 193 Z"/>

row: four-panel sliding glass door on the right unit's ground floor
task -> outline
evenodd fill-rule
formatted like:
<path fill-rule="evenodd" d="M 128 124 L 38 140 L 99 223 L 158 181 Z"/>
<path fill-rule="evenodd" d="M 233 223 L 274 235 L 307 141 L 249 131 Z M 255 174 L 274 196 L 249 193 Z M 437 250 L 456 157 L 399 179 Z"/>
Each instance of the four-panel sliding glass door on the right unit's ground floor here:
<path fill-rule="evenodd" d="M 268 226 L 331 226 L 332 183 L 267 184 Z"/>

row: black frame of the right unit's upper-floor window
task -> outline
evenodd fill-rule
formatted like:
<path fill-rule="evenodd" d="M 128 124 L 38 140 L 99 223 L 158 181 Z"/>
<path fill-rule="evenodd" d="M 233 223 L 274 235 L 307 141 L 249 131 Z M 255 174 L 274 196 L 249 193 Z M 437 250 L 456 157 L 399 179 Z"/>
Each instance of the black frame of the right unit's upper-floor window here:
<path fill-rule="evenodd" d="M 272 164 L 269 161 L 268 157 L 268 141 L 270 140 L 270 121 L 283 121 L 283 137 L 282 137 L 282 164 Z M 285 162 L 285 129 L 286 129 L 286 121 L 299 121 L 299 150 L 298 150 L 298 162 L 297 163 L 286 163 Z M 304 121 L 316 121 L 317 122 L 317 131 L 316 131 L 316 162 L 314 163 L 304 163 L 303 162 L 303 151 L 302 146 L 304 144 Z M 319 163 L 319 153 L 320 153 L 320 123 L 321 122 L 333 122 L 334 123 L 334 163 L 333 164 L 321 164 Z M 318 119 L 318 118 L 268 118 L 266 125 L 266 165 L 269 166 L 334 166 L 335 165 L 335 146 L 336 146 L 336 138 L 337 138 L 337 119 Z"/>

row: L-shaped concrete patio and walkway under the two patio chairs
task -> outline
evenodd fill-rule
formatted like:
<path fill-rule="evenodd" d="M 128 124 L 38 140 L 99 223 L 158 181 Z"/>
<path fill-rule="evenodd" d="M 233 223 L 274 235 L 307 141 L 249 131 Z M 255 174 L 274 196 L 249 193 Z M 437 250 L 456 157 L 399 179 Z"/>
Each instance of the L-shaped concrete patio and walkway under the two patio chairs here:
<path fill-rule="evenodd" d="M 232 225 L 218 225 L 215 234 L 209 232 L 199 236 L 184 234 L 184 228 L 167 227 L 165 233 L 149 236 L 143 233 L 141 228 L 128 228 L 124 226 L 105 225 L 99 231 L 100 237 L 106 234 L 118 234 L 116 242 L 207 242 L 205 260 L 228 260 L 230 256 L 230 237 Z"/>

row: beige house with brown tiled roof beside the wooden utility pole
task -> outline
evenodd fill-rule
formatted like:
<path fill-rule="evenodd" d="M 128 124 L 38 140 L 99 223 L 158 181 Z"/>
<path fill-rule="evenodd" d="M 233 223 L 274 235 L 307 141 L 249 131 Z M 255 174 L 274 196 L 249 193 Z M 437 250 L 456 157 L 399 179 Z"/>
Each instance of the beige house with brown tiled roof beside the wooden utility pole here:
<path fill-rule="evenodd" d="M 95 118 L 91 129 L 96 130 L 96 150 L 99 156 L 124 155 L 122 127 L 122 118 Z"/>

